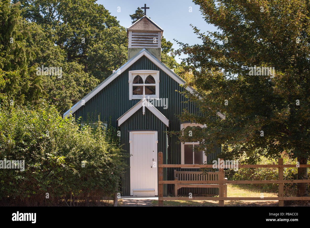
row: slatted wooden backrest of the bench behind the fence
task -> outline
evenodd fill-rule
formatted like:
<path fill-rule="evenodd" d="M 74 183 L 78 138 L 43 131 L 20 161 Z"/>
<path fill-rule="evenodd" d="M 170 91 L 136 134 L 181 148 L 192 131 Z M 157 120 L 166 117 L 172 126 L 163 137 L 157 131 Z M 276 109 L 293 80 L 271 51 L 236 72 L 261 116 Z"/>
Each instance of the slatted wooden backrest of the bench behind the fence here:
<path fill-rule="evenodd" d="M 174 170 L 174 177 L 178 181 L 217 181 L 219 172 L 198 172 L 198 171 L 176 171 Z"/>

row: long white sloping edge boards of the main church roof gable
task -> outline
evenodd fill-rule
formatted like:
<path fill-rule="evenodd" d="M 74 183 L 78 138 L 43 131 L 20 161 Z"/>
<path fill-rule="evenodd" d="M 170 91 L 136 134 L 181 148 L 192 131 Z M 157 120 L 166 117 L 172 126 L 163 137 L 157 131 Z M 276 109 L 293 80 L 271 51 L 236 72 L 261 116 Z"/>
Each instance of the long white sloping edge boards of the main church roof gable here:
<path fill-rule="evenodd" d="M 157 65 L 160 69 L 162 69 L 167 75 L 169 75 L 172 79 L 174 79 L 180 85 L 185 84 L 185 81 L 182 78 L 176 75 L 171 69 L 169 69 L 169 67 L 163 64 L 161 61 L 159 61 L 155 56 L 153 56 L 145 48 L 143 48 L 135 56 L 133 56 L 130 60 L 128 60 L 124 65 L 122 65 L 117 71 L 115 71 L 108 78 L 106 78 L 102 83 L 100 83 L 95 89 L 93 89 L 86 96 L 84 96 L 80 101 L 78 101 L 75 105 L 73 105 L 71 109 L 67 110 L 64 113 L 63 118 L 66 116 L 69 116 L 70 111 L 74 113 L 76 110 L 78 110 L 82 106 L 83 100 L 84 100 L 83 104 L 86 104 L 87 101 L 89 101 L 93 96 L 95 96 L 98 92 L 100 92 L 104 87 L 106 87 L 110 82 L 112 82 L 115 78 L 117 78 L 117 76 L 119 76 L 122 72 L 128 69 L 132 64 L 134 64 L 142 56 L 145 56 L 149 60 L 151 60 L 155 65 Z M 186 87 L 186 90 L 192 93 L 197 92 L 195 89 L 193 89 L 190 86 Z"/>

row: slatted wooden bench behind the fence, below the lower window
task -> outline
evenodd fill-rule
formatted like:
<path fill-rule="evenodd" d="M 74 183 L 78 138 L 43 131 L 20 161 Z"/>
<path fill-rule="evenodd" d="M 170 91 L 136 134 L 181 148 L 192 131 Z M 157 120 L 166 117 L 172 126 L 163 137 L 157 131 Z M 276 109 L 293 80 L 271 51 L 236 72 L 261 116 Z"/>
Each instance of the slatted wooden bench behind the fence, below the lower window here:
<path fill-rule="evenodd" d="M 198 171 L 176 171 L 174 170 L 175 181 L 217 181 L 219 172 L 203 172 Z M 224 178 L 227 180 L 227 178 Z M 180 188 L 218 188 L 216 184 L 175 184 L 175 197 L 178 196 Z M 224 185 L 224 197 L 227 197 L 227 184 Z"/>

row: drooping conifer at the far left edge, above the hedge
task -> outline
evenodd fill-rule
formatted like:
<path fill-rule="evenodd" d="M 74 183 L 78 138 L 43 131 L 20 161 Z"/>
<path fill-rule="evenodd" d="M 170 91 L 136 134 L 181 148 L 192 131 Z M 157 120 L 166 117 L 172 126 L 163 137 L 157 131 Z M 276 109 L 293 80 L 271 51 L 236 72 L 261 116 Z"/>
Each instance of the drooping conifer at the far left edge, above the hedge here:
<path fill-rule="evenodd" d="M 20 3 L 0 2 L 0 69 L 2 77 L 5 75 L 8 79 L 0 93 L 22 105 L 40 100 L 43 79 L 35 74 L 35 66 L 30 64 L 35 54 L 27 47 L 30 34 L 24 29 L 27 22 L 20 17 L 19 7 Z"/>

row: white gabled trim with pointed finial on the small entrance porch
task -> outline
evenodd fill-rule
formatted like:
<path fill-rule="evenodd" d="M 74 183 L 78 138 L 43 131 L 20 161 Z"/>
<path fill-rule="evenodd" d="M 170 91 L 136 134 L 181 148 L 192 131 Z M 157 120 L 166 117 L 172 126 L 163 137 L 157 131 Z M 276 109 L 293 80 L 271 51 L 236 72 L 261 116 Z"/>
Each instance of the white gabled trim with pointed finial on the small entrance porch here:
<path fill-rule="evenodd" d="M 120 118 L 117 119 L 118 126 L 121 126 L 122 123 L 126 121 L 129 117 L 131 117 L 136 111 L 138 111 L 141 107 L 147 107 L 158 119 L 160 119 L 167 127 L 169 127 L 169 120 L 164 116 L 157 108 L 155 108 L 148 100 L 141 99 L 137 104 L 135 104 L 131 109 L 125 112 Z M 145 109 L 145 108 L 144 108 Z M 144 110 L 143 110 L 144 111 Z M 144 114 L 144 113 L 143 113 Z"/>

